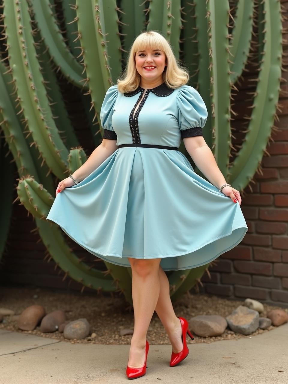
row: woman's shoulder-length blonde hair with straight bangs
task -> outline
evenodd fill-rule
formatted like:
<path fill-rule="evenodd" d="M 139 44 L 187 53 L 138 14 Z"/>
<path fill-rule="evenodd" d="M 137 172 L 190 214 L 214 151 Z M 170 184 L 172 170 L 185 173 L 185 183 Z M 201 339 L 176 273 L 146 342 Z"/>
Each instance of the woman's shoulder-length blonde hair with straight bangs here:
<path fill-rule="evenodd" d="M 167 65 L 162 73 L 163 80 L 170 88 L 178 88 L 189 81 L 189 70 L 180 65 L 175 58 L 169 42 L 156 31 L 144 31 L 134 40 L 127 59 L 126 68 L 117 80 L 119 92 L 135 91 L 141 81 L 141 76 L 136 69 L 135 55 L 139 50 L 159 49 L 166 55 Z"/>

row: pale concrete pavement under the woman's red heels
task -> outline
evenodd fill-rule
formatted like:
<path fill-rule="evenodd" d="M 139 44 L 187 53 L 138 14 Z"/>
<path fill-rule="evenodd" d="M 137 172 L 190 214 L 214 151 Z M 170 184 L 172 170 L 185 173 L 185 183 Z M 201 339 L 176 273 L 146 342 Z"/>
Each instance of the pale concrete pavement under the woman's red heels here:
<path fill-rule="evenodd" d="M 148 340 L 149 341 L 149 340 Z M 286 384 L 288 323 L 251 338 L 189 344 L 170 367 L 170 345 L 150 345 L 146 375 L 162 384 Z M 0 329 L 0 384 L 127 383 L 129 345 L 71 344 Z"/>

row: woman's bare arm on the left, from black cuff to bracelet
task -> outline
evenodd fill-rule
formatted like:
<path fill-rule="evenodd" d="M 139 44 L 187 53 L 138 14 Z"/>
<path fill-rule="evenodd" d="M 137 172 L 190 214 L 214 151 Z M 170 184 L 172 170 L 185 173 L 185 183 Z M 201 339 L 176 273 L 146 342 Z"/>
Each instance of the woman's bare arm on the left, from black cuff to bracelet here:
<path fill-rule="evenodd" d="M 116 151 L 116 140 L 103 139 L 101 144 L 94 149 L 86 162 L 79 167 L 72 176 L 76 181 L 82 181 L 102 164 L 113 152 Z"/>

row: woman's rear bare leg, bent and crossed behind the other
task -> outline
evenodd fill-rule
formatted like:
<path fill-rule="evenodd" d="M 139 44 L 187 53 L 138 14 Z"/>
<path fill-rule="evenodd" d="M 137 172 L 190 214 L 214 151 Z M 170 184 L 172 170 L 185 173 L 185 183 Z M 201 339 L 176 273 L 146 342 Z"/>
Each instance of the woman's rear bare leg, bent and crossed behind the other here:
<path fill-rule="evenodd" d="M 159 279 L 161 287 L 155 311 L 166 329 L 173 351 L 178 353 L 183 349 L 182 328 L 171 302 L 169 280 L 161 266 L 159 266 Z"/>

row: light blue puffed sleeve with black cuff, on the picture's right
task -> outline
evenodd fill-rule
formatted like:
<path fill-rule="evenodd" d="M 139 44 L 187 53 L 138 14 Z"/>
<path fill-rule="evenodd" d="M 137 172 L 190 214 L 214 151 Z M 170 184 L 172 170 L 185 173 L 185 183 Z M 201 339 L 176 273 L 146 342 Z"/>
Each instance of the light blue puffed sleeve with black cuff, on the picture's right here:
<path fill-rule="evenodd" d="M 207 108 L 199 92 L 190 85 L 180 87 L 176 96 L 181 138 L 203 136 L 202 128 L 207 121 Z"/>

